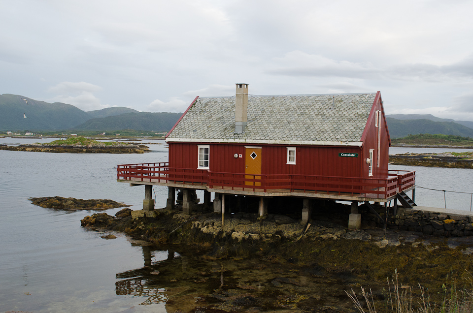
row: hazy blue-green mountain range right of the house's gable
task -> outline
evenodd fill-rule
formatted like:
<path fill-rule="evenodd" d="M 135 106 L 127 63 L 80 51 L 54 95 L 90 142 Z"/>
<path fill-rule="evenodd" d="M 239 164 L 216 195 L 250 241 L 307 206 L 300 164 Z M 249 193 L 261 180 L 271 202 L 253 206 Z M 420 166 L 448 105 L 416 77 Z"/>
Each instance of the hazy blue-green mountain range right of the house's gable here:
<path fill-rule="evenodd" d="M 455 122 L 434 122 L 428 119 L 398 120 L 386 117 L 391 138 L 402 138 L 408 134 L 444 134 L 473 137 L 473 129 Z"/>

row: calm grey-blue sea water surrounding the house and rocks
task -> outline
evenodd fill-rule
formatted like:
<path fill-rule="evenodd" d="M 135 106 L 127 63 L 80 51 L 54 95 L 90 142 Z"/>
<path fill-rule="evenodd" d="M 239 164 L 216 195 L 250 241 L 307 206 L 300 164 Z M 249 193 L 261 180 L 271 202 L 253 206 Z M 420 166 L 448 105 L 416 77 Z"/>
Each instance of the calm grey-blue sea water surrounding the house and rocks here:
<path fill-rule="evenodd" d="M 0 138 L 0 143 L 36 141 Z M 66 213 L 36 207 L 28 201 L 29 197 L 58 195 L 113 199 L 139 209 L 144 188 L 116 183 L 115 166 L 167 161 L 166 145 L 151 145 L 150 148 L 153 152 L 143 155 L 0 151 L 3 182 L 0 188 L 0 312 L 174 312 L 178 307 L 167 305 L 166 300 L 171 294 L 180 294 L 189 287 L 169 285 L 169 280 L 165 285 L 144 279 L 145 262 L 148 265 L 150 262 L 170 262 L 166 266 L 174 266 L 175 275 L 177 271 L 184 273 L 179 275 L 191 275 L 186 271 L 206 268 L 215 272 L 210 276 L 206 292 L 218 287 L 224 277 L 220 273 L 221 267 L 223 273 L 223 265 L 219 263 L 203 263 L 187 256 L 189 251 L 172 253 L 164 248 L 134 246 L 122 234 L 115 234 L 117 239 L 105 240 L 100 238 L 102 233 L 80 227 L 80 219 L 94 211 Z M 391 168 L 416 170 L 417 184 L 422 187 L 473 191 L 472 170 Z M 164 207 L 167 189 L 155 187 L 154 191 L 156 206 Z M 469 195 L 447 193 L 446 201 L 448 208 L 470 210 Z M 416 202 L 423 206 L 443 207 L 443 192 L 418 188 Z M 112 215 L 118 210 L 107 213 Z M 168 260 L 170 255 L 175 258 Z M 225 266 L 230 265 L 226 263 Z M 194 303 L 198 292 L 203 291 L 196 289 L 199 288 L 188 290 L 182 296 L 188 297 L 190 304 Z M 334 294 L 342 291 L 335 289 Z M 344 294 L 341 292 L 339 296 Z"/>

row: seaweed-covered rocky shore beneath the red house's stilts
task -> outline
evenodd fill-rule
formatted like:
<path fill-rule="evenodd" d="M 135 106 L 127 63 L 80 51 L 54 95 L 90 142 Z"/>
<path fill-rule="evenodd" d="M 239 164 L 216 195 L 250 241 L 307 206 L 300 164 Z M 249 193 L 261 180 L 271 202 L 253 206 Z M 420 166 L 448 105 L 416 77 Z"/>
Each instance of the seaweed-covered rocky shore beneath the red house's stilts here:
<path fill-rule="evenodd" d="M 373 287 L 376 300 L 382 302 L 382 288 L 375 286 L 384 285 L 386 278 L 392 277 L 397 269 L 403 284 L 416 286 L 421 283 L 436 298 L 441 296 L 442 283 L 461 281 L 473 270 L 470 236 L 439 238 L 421 232 L 387 229 L 384 237 L 383 229 L 373 221 L 364 221 L 363 229 L 349 230 L 345 223 L 350 209 L 342 204 L 314 210 L 307 225 L 301 225 L 300 212 L 288 212 L 287 215 L 269 214 L 261 218 L 250 213 L 227 214 L 222 225 L 221 215 L 205 211 L 202 205 L 198 205 L 192 215 L 184 215 L 180 210 L 155 210 L 154 218 L 133 218 L 130 209 L 123 209 L 114 217 L 105 213 L 87 216 L 81 220 L 81 225 L 102 232 L 124 232 L 159 246 L 187 245 L 206 260 L 242 260 L 246 264 L 260 264 L 262 267 L 255 276 L 260 271 L 263 273 L 266 266 L 292 268 L 285 270 L 284 275 L 277 274 L 274 269 L 265 274 L 272 286 L 286 287 L 284 292 L 277 289 L 281 291 L 273 294 L 272 304 L 265 300 L 268 295 L 248 278 L 248 283 L 241 286 L 229 284 L 228 289 L 210 293 L 201 291 L 201 300 L 193 304 L 194 310 L 200 306 L 227 308 L 227 312 L 269 312 L 262 309 L 262 303 L 271 306 L 279 301 L 279 305 L 288 305 L 290 310 L 287 312 L 353 312 L 345 311 L 350 305 L 344 300 L 339 301 L 340 307 L 326 308 L 329 311 L 317 308 L 317 311 L 320 301 L 310 294 L 308 286 L 314 284 L 314 280 L 330 280 L 335 275 L 334 283 L 341 286 L 338 288 Z M 169 274 L 166 268 L 160 269 L 163 284 L 175 286 L 179 280 L 187 282 L 191 279 L 198 282 L 202 290 L 208 289 L 208 277 L 205 276 L 208 273 L 176 279 L 166 276 Z M 150 271 L 156 273 L 157 269 Z M 298 275 L 303 275 L 304 280 L 297 279 Z M 304 289 L 307 289 L 305 293 Z M 291 294 L 294 297 L 291 298 Z M 321 295 L 318 297 L 320 300 Z"/>

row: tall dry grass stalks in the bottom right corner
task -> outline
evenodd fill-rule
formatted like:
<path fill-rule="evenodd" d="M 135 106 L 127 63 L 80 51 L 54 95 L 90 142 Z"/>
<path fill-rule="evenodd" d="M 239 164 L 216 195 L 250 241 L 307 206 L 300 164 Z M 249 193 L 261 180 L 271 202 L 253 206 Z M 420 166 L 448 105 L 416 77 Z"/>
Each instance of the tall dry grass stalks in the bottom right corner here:
<path fill-rule="evenodd" d="M 470 277 L 470 287 L 473 287 L 472 276 Z M 443 301 L 440 304 L 432 303 L 428 290 L 425 290 L 420 284 L 419 296 L 414 301 L 412 288 L 410 286 L 400 285 L 398 281 L 398 271 L 395 271 L 391 281 L 388 279 L 389 294 L 384 310 L 385 313 L 472 313 L 473 312 L 473 291 L 470 289 L 457 289 L 456 284 L 448 290 L 445 284 L 442 285 Z M 355 291 L 351 293 L 345 290 L 348 297 L 353 301 L 355 307 L 360 313 L 377 313 L 372 291 L 365 291 L 361 288 L 360 299 Z"/>

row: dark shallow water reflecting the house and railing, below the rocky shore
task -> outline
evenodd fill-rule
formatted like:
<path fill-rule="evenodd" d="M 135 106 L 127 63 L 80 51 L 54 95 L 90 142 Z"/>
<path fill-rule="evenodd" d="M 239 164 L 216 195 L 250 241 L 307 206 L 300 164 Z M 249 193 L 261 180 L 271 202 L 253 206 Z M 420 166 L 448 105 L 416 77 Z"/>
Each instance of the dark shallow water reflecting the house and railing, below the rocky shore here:
<path fill-rule="evenodd" d="M 142 247 L 142 254 L 142 268 L 116 274 L 116 294 L 141 297 L 140 305 L 164 304 L 167 312 L 351 308 L 344 290 L 360 282 L 350 271 L 328 273 L 257 258 L 214 261 L 182 247 Z"/>

